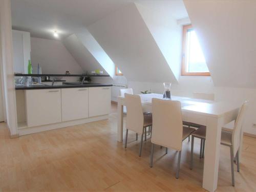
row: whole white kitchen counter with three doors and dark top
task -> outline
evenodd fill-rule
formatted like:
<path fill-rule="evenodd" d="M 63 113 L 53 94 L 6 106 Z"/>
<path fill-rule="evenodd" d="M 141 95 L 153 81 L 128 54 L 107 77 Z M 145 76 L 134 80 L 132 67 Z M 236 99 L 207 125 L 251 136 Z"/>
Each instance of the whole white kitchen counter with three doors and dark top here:
<path fill-rule="evenodd" d="M 112 84 L 68 83 L 16 86 L 19 135 L 109 118 Z"/>

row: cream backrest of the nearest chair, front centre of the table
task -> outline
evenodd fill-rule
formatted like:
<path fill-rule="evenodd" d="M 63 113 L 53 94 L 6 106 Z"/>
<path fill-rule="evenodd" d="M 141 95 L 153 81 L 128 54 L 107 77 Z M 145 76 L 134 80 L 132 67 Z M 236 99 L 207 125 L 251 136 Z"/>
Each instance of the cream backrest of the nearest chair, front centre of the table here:
<path fill-rule="evenodd" d="M 152 111 L 151 142 L 181 151 L 183 126 L 180 101 L 153 98 Z"/>

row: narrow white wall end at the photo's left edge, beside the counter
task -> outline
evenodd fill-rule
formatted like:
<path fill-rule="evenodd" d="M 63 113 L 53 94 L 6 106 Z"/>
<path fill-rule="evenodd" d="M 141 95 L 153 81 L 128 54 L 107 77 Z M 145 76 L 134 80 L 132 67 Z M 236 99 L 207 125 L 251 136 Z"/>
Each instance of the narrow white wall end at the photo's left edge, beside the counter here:
<path fill-rule="evenodd" d="M 10 134 L 17 134 L 15 86 L 13 80 L 11 2 L 0 0 L 0 68 L 4 91 L 5 116 Z"/>

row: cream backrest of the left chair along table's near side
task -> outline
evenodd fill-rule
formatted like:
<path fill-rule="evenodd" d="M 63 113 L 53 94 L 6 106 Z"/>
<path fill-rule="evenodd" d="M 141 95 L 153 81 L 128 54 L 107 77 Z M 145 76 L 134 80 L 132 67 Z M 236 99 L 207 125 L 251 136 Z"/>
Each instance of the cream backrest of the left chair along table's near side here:
<path fill-rule="evenodd" d="M 124 94 L 126 105 L 126 128 L 138 134 L 143 133 L 143 109 L 139 95 Z"/>

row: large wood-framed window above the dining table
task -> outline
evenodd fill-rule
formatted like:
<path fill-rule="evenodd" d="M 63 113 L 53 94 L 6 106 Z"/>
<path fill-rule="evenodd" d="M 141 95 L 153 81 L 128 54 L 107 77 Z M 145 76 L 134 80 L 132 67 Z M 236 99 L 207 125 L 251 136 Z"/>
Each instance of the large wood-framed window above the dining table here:
<path fill-rule="evenodd" d="M 197 38 L 197 34 L 191 25 L 183 26 L 183 55 L 181 75 L 210 75 Z"/>

